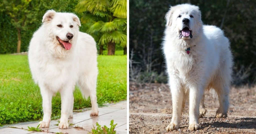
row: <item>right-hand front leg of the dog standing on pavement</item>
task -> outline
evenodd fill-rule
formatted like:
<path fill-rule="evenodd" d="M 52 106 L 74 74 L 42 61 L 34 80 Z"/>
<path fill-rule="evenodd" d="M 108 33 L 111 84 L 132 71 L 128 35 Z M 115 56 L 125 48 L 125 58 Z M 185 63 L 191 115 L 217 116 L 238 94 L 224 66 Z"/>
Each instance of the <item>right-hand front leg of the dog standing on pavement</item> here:
<path fill-rule="evenodd" d="M 69 88 L 62 89 L 61 95 L 61 116 L 60 116 L 60 129 L 67 129 L 69 127 L 68 118 L 70 117 L 70 111 L 73 110 L 73 86 L 67 86 Z"/>

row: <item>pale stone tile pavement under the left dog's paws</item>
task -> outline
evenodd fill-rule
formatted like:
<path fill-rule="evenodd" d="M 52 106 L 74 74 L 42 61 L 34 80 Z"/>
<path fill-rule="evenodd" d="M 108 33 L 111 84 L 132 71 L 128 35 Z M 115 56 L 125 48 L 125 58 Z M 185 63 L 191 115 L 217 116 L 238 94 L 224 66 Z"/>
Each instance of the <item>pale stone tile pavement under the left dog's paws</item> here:
<path fill-rule="evenodd" d="M 91 109 L 83 109 L 82 112 L 74 112 L 73 118 L 69 119 L 68 129 L 59 129 L 56 124 L 57 120 L 51 120 L 49 128 L 42 128 L 43 132 L 28 131 L 29 127 L 37 127 L 38 121 L 29 121 L 18 124 L 12 124 L 8 126 L 0 127 L 0 134 L 46 134 L 46 133 L 60 133 L 63 134 L 85 134 L 91 132 L 93 125 L 96 126 L 96 122 L 99 125 L 110 127 L 110 121 L 113 119 L 116 133 L 127 133 L 127 101 L 120 101 L 116 104 L 111 103 L 108 106 L 99 108 L 98 116 L 90 116 Z"/>

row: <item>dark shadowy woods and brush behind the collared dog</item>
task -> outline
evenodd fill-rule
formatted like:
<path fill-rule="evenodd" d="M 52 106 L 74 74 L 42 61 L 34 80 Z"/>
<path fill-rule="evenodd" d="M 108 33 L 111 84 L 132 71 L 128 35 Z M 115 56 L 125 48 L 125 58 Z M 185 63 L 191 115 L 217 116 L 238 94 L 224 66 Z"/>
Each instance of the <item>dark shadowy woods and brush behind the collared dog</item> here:
<path fill-rule="evenodd" d="M 170 6 L 191 3 L 199 6 L 206 25 L 220 27 L 231 43 L 234 85 L 256 82 L 256 1 L 244 0 L 130 0 L 130 80 L 167 82 L 161 42 L 164 19 Z"/>

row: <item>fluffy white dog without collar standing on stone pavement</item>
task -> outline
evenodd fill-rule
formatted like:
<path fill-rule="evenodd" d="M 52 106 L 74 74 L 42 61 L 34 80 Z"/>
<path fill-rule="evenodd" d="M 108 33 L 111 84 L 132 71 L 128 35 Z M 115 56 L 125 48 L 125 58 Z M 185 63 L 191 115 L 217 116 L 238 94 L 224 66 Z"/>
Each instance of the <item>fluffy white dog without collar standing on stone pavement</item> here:
<path fill-rule="evenodd" d="M 40 128 L 48 128 L 51 120 L 51 101 L 56 92 L 61 95 L 59 128 L 68 128 L 73 117 L 76 83 L 84 97 L 90 96 L 91 116 L 98 115 L 96 97 L 97 48 L 94 39 L 79 32 L 80 20 L 72 13 L 48 10 L 42 26 L 29 44 L 28 60 L 35 83 L 40 87 L 44 117 Z"/>

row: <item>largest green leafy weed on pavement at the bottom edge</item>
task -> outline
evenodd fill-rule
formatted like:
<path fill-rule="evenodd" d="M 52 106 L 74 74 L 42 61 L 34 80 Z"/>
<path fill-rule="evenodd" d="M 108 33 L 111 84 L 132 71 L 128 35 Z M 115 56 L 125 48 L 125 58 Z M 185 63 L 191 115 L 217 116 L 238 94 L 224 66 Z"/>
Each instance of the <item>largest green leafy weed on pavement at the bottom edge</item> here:
<path fill-rule="evenodd" d="M 101 125 L 99 125 L 98 122 L 96 122 L 96 128 L 93 126 L 92 128 L 92 134 L 115 134 L 116 131 L 114 130 L 115 129 L 115 126 L 117 124 L 114 124 L 114 120 L 111 120 L 110 121 L 110 128 L 108 128 L 107 126 L 103 126 L 101 127 Z"/>

